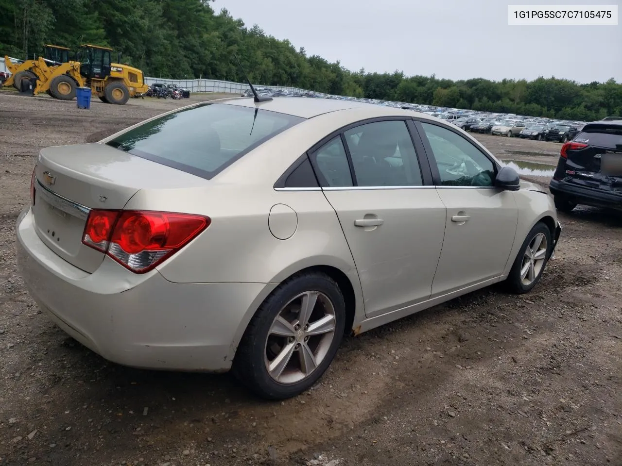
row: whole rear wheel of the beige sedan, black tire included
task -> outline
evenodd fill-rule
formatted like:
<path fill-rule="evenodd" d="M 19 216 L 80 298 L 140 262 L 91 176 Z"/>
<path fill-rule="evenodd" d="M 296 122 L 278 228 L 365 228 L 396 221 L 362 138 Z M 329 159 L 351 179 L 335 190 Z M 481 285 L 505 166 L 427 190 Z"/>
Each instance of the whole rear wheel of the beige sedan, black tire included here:
<path fill-rule="evenodd" d="M 315 306 L 307 322 L 310 321 L 313 327 L 318 318 L 325 319 L 332 315 L 332 322 L 326 324 L 332 324 L 332 331 L 305 336 L 304 330 L 309 326 L 302 329 L 295 327 L 300 316 L 297 310 L 302 308 L 307 293 L 308 296 L 317 294 L 317 301 L 314 301 Z M 293 311 L 289 310 L 290 304 L 294 304 Z M 292 332 L 289 337 L 276 336 L 271 331 L 279 316 L 279 322 L 289 322 L 287 326 L 278 324 L 279 329 L 285 329 L 282 335 Z M 272 292 L 251 319 L 233 360 L 233 374 L 249 390 L 268 400 L 283 400 L 299 395 L 322 377 L 332 362 L 343 338 L 345 319 L 343 295 L 332 278 L 318 272 L 294 275 Z M 277 364 L 271 375 L 268 367 L 275 365 L 288 347 L 289 357 L 282 366 L 284 368 L 279 371 Z M 310 349 L 311 354 L 315 352 L 313 363 L 317 363 L 308 372 L 302 364 L 303 356 L 308 354 L 305 349 Z M 322 360 L 317 362 L 316 358 L 320 355 Z"/>

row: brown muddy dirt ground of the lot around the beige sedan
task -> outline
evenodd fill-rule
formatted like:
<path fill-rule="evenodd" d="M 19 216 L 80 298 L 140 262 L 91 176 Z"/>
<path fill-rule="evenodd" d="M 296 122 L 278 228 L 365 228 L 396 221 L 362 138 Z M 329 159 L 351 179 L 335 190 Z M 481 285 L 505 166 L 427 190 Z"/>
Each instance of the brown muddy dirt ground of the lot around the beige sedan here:
<path fill-rule="evenodd" d="M 560 216 L 532 293 L 481 290 L 348 339 L 284 403 L 228 375 L 120 367 L 65 336 L 16 268 L 37 150 L 185 103 L 78 111 L 0 93 L 0 465 L 622 466 L 622 217 L 598 209 Z M 555 163 L 560 147 L 480 140 L 518 162 Z"/>

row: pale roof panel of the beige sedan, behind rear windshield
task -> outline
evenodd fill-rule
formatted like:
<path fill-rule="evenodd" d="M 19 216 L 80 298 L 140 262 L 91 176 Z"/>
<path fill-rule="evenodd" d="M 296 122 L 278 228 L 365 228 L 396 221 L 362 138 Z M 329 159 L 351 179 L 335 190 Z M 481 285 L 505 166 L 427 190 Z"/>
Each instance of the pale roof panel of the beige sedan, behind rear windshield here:
<path fill-rule="evenodd" d="M 273 112 L 285 113 L 302 118 L 312 118 L 324 113 L 346 110 L 351 108 L 378 109 L 378 116 L 385 114 L 407 114 L 412 116 L 412 110 L 402 110 L 394 107 L 383 107 L 376 104 L 338 99 L 309 99 L 305 97 L 275 97 L 271 101 L 255 103 L 252 97 L 228 99 L 226 103 L 243 107 L 257 107 Z M 427 115 L 426 115 L 427 116 Z"/>

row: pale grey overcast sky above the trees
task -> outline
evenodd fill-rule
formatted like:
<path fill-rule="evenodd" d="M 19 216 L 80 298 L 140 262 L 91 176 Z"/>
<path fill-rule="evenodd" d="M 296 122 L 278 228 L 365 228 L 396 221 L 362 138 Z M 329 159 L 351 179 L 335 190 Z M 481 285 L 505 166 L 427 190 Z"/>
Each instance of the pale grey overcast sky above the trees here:
<path fill-rule="evenodd" d="M 213 8 L 350 70 L 622 81 L 620 17 L 609 26 L 510 26 L 508 4 L 617 4 L 622 15 L 622 0 L 216 0 Z"/>

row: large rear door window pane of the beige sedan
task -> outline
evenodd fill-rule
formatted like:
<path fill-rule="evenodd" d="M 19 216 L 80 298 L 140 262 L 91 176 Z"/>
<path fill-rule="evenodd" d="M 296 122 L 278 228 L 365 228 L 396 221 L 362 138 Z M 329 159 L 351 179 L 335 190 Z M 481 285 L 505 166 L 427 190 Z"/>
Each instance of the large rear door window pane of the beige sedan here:
<path fill-rule="evenodd" d="M 347 130 L 346 142 L 358 186 L 420 186 L 421 171 L 411 135 L 402 120 L 368 123 Z"/>

